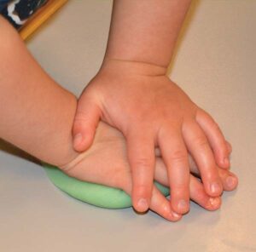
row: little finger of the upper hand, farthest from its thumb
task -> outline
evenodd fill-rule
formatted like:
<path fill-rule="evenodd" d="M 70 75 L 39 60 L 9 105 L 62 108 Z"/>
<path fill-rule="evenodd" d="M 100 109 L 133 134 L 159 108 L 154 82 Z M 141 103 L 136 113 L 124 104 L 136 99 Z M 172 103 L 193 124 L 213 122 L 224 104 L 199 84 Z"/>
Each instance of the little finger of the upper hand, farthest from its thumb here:
<path fill-rule="evenodd" d="M 230 168 L 229 149 L 224 139 L 221 129 L 213 118 L 204 110 L 198 109 L 195 120 L 203 129 L 207 140 L 209 141 L 214 158 L 219 167 L 223 169 Z"/>

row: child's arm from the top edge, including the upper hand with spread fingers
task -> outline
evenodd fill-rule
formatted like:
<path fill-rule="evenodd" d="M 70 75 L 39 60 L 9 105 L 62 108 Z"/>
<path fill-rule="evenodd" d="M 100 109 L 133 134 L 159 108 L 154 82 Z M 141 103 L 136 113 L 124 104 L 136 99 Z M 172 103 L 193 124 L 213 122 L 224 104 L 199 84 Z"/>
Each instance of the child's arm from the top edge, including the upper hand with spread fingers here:
<path fill-rule="evenodd" d="M 150 203 L 155 146 L 160 146 L 165 160 L 172 207 L 178 213 L 189 210 L 188 151 L 211 196 L 222 192 L 214 156 L 219 166 L 229 167 L 217 123 L 166 77 L 189 3 L 114 1 L 102 69 L 79 99 L 73 126 L 75 149 L 90 146 L 100 117 L 119 129 L 127 140 L 132 199 L 138 211 Z"/>

